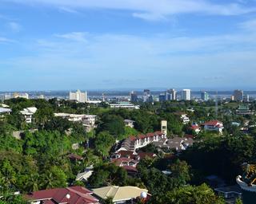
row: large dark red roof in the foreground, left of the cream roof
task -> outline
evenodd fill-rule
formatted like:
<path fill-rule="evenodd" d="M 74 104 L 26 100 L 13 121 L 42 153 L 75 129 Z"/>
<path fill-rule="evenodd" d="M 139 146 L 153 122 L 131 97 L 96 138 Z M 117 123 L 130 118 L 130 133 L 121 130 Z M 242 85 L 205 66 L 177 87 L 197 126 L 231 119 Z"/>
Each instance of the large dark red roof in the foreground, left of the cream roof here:
<path fill-rule="evenodd" d="M 31 204 L 98 204 L 90 190 L 82 186 L 39 190 L 27 194 Z"/>

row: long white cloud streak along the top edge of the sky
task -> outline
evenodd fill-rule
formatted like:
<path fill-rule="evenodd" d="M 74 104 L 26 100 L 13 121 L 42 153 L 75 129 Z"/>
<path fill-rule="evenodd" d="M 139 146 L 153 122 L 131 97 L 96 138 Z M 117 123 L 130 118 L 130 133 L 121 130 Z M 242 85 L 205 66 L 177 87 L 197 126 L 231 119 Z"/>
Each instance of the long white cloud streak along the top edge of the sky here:
<path fill-rule="evenodd" d="M 135 17 L 146 20 L 166 18 L 172 14 L 202 13 L 216 15 L 238 15 L 254 12 L 255 7 L 243 3 L 214 3 L 210 0 L 4 0 L 29 5 L 58 6 L 62 8 L 101 8 L 130 10 Z"/>

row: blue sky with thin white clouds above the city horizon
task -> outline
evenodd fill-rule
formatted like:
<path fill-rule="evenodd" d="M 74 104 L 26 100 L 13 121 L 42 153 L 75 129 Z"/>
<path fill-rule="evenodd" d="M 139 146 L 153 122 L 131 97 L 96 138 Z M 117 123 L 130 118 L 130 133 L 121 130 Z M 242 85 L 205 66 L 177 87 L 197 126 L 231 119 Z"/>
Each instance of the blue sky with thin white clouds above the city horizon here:
<path fill-rule="evenodd" d="M 256 0 L 0 0 L 0 91 L 255 81 Z"/>

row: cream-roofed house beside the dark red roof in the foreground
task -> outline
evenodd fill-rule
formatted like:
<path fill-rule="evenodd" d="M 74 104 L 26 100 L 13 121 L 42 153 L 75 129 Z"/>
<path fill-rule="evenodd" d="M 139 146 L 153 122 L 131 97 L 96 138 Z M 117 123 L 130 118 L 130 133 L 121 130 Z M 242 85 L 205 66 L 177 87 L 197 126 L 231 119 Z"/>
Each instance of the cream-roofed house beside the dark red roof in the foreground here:
<path fill-rule="evenodd" d="M 114 204 L 134 203 L 136 198 L 141 198 L 142 193 L 148 194 L 148 190 L 136 186 L 106 186 L 93 189 L 93 192 L 101 200 L 113 198 Z"/>

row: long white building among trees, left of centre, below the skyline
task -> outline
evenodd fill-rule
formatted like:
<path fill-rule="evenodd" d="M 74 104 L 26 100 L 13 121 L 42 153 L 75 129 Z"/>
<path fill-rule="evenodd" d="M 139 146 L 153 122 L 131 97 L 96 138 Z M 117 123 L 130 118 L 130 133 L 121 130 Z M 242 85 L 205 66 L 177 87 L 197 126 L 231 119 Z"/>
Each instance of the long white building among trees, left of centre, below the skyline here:
<path fill-rule="evenodd" d="M 86 131 L 91 131 L 96 128 L 97 116 L 85 114 L 70 114 L 70 113 L 54 113 L 55 117 L 62 117 L 70 120 L 71 122 L 81 122 L 86 128 Z"/>

